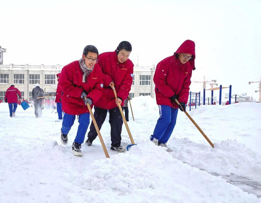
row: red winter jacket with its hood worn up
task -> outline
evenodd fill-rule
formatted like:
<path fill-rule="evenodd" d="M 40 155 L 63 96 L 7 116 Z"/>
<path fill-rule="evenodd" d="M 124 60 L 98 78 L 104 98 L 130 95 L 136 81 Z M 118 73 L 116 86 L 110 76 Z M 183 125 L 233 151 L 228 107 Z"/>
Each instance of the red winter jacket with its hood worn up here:
<path fill-rule="evenodd" d="M 193 58 L 181 64 L 178 53 L 192 54 Z M 158 63 L 153 81 L 155 83 L 155 95 L 158 105 L 167 105 L 178 108 L 178 105 L 171 102 L 170 97 L 179 96 L 179 102 L 188 102 L 189 85 L 191 84 L 192 70 L 195 69 L 195 43 L 186 40 L 177 49 L 173 56 L 163 59 Z"/>

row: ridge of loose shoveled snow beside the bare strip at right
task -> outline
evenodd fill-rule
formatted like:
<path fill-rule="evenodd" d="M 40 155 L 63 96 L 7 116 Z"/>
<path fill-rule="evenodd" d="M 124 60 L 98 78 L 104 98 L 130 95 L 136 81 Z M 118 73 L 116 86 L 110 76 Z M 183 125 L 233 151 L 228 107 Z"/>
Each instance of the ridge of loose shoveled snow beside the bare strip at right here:
<path fill-rule="evenodd" d="M 261 155 L 236 140 L 197 144 L 188 138 L 173 138 L 173 157 L 193 167 L 220 175 L 244 176 L 261 182 Z"/>

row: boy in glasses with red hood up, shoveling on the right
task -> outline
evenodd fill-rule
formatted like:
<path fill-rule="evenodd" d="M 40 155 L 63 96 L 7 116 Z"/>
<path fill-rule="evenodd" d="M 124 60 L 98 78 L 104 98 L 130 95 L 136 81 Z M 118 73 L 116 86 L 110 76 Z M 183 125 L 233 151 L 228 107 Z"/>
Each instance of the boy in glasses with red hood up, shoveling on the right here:
<path fill-rule="evenodd" d="M 156 67 L 153 81 L 160 117 L 150 139 L 158 146 L 168 148 L 167 142 L 175 127 L 178 109 L 186 111 L 194 60 L 195 43 L 186 40 L 173 56 L 163 59 Z M 175 99 L 181 105 L 178 106 Z"/>

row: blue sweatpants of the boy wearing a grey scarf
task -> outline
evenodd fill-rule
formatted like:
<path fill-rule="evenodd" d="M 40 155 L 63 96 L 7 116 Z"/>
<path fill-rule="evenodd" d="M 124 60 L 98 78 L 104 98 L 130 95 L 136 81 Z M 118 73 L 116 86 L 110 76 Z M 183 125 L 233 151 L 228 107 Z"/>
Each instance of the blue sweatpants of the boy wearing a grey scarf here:
<path fill-rule="evenodd" d="M 61 129 L 64 135 L 67 135 L 69 133 L 71 127 L 73 126 L 74 120 L 75 120 L 75 115 L 64 113 L 63 124 Z M 80 114 L 78 122 L 79 122 L 79 126 L 74 142 L 81 144 L 84 142 L 85 134 L 90 124 L 90 113 Z"/>

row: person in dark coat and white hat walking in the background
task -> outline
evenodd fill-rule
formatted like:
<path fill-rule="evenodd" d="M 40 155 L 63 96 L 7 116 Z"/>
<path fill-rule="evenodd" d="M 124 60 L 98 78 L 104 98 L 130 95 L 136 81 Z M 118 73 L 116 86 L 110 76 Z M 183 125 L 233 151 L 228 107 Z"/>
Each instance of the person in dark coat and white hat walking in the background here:
<path fill-rule="evenodd" d="M 32 90 L 32 99 L 34 102 L 34 114 L 35 118 L 38 118 L 42 115 L 42 100 L 43 98 L 37 99 L 37 97 L 43 97 L 44 91 L 40 88 L 40 85 L 37 83 L 34 85 Z"/>

